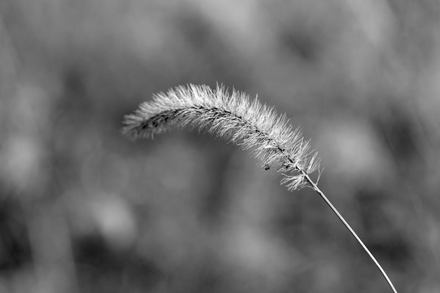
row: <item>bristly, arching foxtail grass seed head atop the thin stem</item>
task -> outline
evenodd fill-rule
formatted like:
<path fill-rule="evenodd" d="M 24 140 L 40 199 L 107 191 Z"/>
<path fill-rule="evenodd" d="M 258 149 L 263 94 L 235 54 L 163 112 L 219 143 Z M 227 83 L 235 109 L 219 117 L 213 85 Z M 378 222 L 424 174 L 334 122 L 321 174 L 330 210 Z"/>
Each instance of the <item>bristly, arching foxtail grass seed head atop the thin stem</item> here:
<path fill-rule="evenodd" d="M 229 139 L 242 149 L 251 149 L 264 169 L 275 167 L 289 190 L 302 188 L 306 176 L 319 171 L 320 159 L 293 130 L 286 115 L 263 105 L 243 92 L 229 94 L 223 85 L 178 86 L 157 93 L 138 110 L 124 117 L 123 134 L 131 138 L 153 138 L 172 126 L 193 126 Z M 314 152 L 314 153 L 313 153 Z M 321 174 L 321 172 L 320 172 Z"/>

